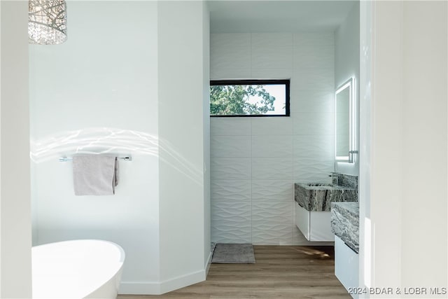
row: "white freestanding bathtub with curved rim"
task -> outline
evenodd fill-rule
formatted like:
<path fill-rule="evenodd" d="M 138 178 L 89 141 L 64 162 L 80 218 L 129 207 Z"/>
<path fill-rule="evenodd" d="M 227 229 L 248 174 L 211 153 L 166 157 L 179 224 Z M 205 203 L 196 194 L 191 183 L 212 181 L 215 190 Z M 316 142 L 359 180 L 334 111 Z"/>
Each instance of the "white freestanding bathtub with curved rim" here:
<path fill-rule="evenodd" d="M 116 298 L 125 251 L 85 239 L 32 248 L 33 298 Z"/>

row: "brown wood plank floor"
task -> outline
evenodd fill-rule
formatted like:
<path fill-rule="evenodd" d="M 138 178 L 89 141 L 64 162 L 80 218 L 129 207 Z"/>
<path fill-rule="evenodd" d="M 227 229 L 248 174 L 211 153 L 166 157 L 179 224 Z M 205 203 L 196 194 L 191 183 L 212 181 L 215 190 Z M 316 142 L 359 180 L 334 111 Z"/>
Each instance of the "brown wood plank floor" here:
<path fill-rule="evenodd" d="M 211 264 L 206 281 L 148 298 L 351 298 L 335 277 L 332 246 L 253 246 L 255 264 Z"/>

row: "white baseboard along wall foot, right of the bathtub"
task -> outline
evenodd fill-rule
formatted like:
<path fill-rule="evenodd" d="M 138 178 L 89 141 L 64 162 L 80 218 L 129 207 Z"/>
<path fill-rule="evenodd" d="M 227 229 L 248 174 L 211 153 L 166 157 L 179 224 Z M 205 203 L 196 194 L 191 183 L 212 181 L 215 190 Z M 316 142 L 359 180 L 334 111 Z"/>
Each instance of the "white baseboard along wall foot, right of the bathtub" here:
<path fill-rule="evenodd" d="M 206 279 L 206 270 L 200 270 L 190 274 L 174 277 L 160 282 L 133 282 L 123 281 L 118 293 L 126 295 L 162 295 L 170 291 L 197 284 Z"/>

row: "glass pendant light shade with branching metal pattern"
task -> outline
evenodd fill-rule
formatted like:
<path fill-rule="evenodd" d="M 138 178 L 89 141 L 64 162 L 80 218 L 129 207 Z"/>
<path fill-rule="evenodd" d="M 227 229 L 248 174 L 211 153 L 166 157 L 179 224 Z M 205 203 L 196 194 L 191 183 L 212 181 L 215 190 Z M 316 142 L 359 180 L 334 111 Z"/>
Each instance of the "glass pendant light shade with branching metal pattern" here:
<path fill-rule="evenodd" d="M 67 13 L 64 0 L 28 1 L 29 43 L 57 45 L 67 39 Z"/>

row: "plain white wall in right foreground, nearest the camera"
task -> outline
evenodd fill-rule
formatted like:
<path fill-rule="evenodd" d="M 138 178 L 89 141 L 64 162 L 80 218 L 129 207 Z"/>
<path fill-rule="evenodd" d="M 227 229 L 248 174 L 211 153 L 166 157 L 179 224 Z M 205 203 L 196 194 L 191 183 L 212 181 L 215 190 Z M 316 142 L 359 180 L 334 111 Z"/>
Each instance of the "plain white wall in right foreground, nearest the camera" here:
<path fill-rule="evenodd" d="M 361 31 L 367 46 L 372 29 L 372 53 L 362 65 L 372 67 L 372 77 L 361 109 L 361 148 L 369 153 L 361 155 L 361 174 L 370 170 L 360 181 L 366 195 L 360 238 L 368 240 L 360 247 L 361 281 L 394 290 L 426 287 L 419 298 L 445 298 L 429 290 L 446 288 L 448 279 L 448 6 L 369 6 L 363 4 L 363 12 L 372 12 L 372 22 L 366 18 Z"/>

